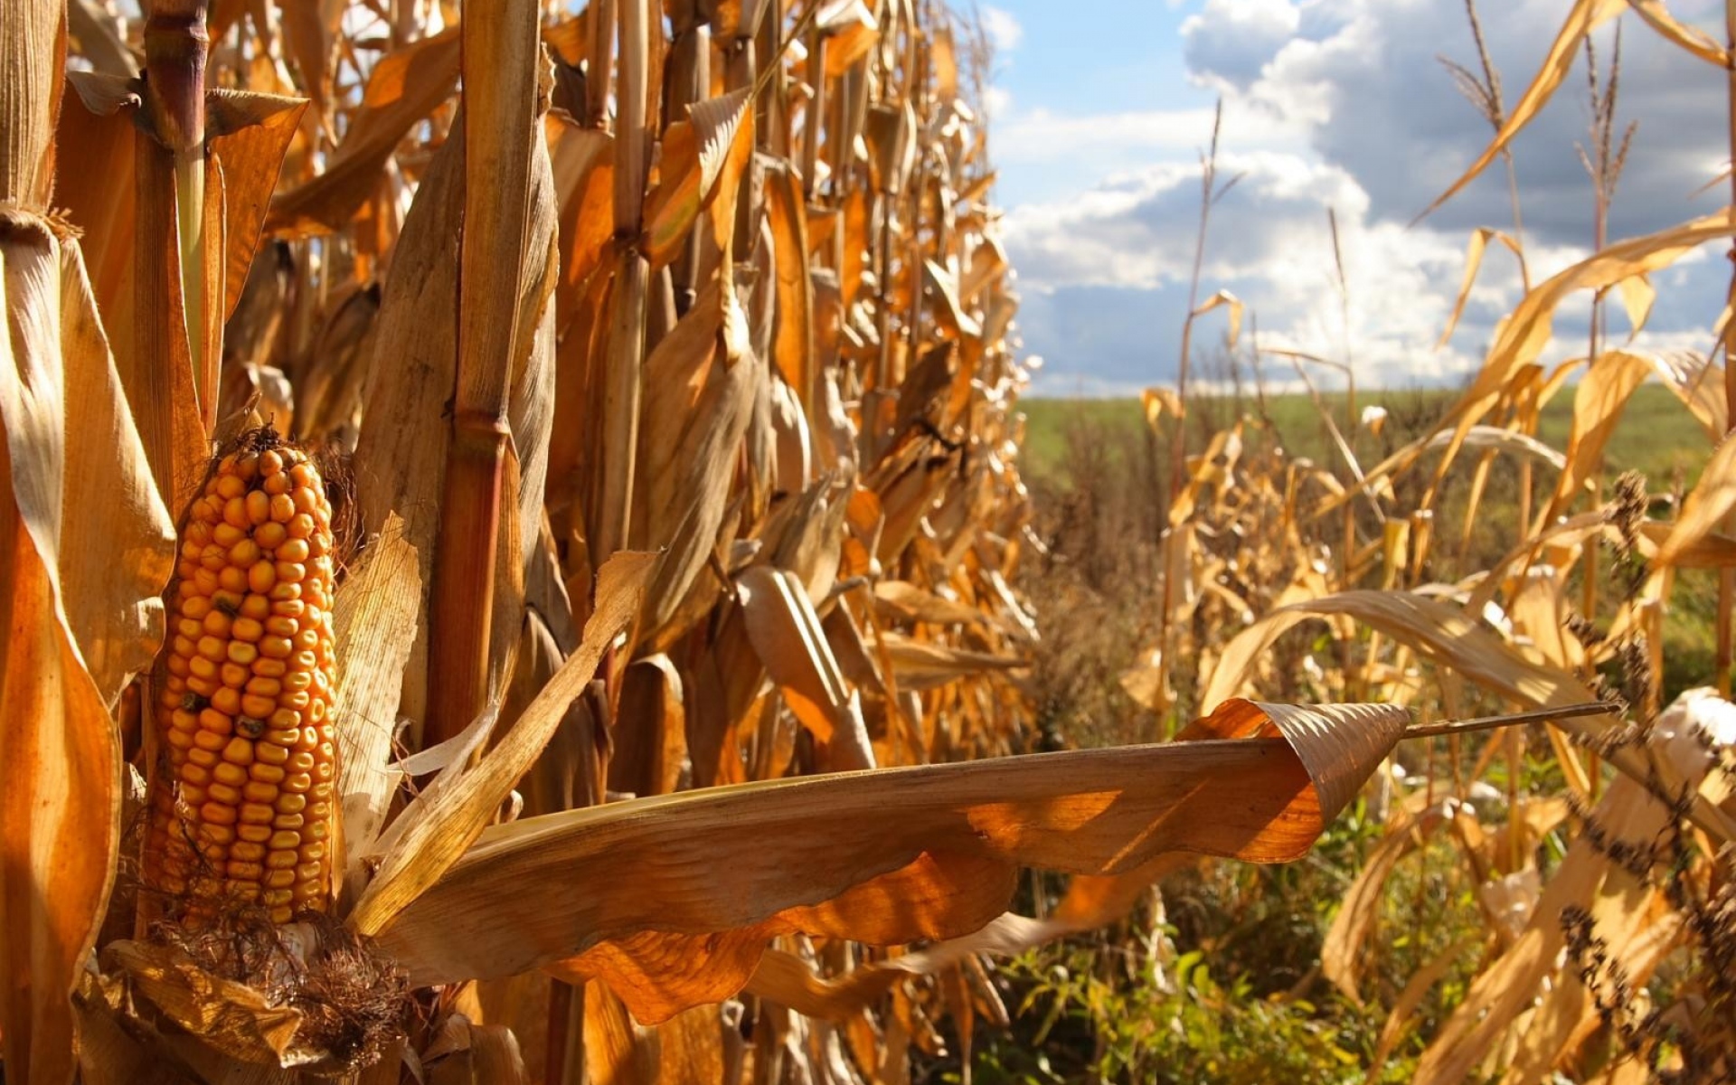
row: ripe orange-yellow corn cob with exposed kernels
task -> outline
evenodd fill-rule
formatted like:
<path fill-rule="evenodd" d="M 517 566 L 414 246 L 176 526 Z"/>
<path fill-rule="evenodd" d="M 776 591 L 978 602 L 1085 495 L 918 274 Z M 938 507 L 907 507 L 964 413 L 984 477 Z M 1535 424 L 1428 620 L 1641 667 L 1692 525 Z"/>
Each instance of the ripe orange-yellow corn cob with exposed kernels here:
<path fill-rule="evenodd" d="M 189 922 L 220 903 L 274 922 L 332 894 L 332 509 L 307 457 L 262 429 L 193 502 L 181 538 L 148 884 Z"/>

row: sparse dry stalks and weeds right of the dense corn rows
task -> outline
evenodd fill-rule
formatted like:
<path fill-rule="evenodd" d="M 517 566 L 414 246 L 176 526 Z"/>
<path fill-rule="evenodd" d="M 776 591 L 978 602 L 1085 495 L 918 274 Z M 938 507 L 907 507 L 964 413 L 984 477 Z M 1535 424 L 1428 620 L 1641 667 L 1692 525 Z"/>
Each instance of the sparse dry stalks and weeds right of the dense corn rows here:
<path fill-rule="evenodd" d="M 1706 314 L 1710 358 L 1621 344 L 1606 328 L 1620 316 L 1602 312 L 1641 328 L 1649 276 L 1727 238 L 1736 212 L 1604 236 L 1632 125 L 1618 118 L 1620 40 L 1611 57 L 1588 35 L 1627 14 L 1693 62 L 1726 54 L 1658 3 L 1564 7 L 1517 102 L 1503 104 L 1486 56 L 1481 73 L 1450 64 L 1496 139 L 1441 200 L 1507 155 L 1583 57 L 1597 252 L 1526 279 L 1458 394 L 1364 391 L 1382 406 L 1370 415 L 1354 389 L 1314 394 L 1309 441 L 1293 441 L 1295 404 L 1274 410 L 1260 375 L 1344 366 L 1238 342 L 1233 299 L 1198 306 L 1229 309 L 1213 377 L 1236 392 L 1151 389 L 1149 432 L 1120 444 L 1092 425 L 1102 410 L 1062 424 L 1036 495 L 1045 554 L 1021 587 L 1047 602 L 1036 708 L 1057 740 L 1151 741 L 1248 691 L 1425 717 L 1599 696 L 1627 705 L 1625 722 L 1408 745 L 1309 868 L 1200 865 L 1118 937 L 1021 958 L 1012 986 L 1047 1014 L 1045 1035 L 1071 1024 L 1092 1038 L 1043 1064 L 1002 1045 L 1009 1080 L 1736 1075 L 1731 312 Z M 1474 7 L 1470 21 L 1481 45 Z M 1203 215 L 1212 198 L 1208 181 Z M 1517 200 L 1510 231 L 1472 238 L 1465 293 L 1496 245 L 1522 267 Z M 1590 342 L 1550 361 L 1554 316 L 1587 300 Z M 1613 437 L 1660 425 L 1623 418 L 1647 380 L 1667 389 L 1667 424 L 1696 429 L 1687 476 L 1606 469 Z M 1559 444 L 1538 439 L 1545 411 L 1569 418 Z M 1286 453 L 1304 443 L 1318 458 Z"/>

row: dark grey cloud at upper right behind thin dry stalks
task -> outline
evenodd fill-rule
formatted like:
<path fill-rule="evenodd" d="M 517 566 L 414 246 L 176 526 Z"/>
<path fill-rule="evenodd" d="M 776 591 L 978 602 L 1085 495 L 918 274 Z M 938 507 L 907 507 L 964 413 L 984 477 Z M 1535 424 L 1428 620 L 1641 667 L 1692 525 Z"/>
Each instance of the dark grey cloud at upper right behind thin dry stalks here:
<path fill-rule="evenodd" d="M 1559 30 L 1562 5 L 1512 0 L 1500 10 L 1484 7 L 1510 108 Z M 1705 0 L 1674 9 L 1684 17 L 1710 14 Z M 1246 47 L 1236 40 L 1245 21 L 1219 10 L 1219 0 L 1207 3 L 1191 19 L 1198 26 L 1186 56 L 1194 76 L 1305 125 L 1312 148 L 1363 184 L 1375 217 L 1410 220 L 1491 137 L 1488 122 L 1453 92 L 1439 62 L 1448 56 L 1477 66 L 1463 10 L 1436 0 L 1309 0 L 1295 16 L 1299 28 L 1314 24 L 1312 36 L 1299 30 L 1248 82 Z M 1608 71 L 1611 35 L 1601 35 L 1599 45 Z M 1687 59 L 1644 26 L 1627 28 L 1620 116 L 1637 118 L 1639 128 L 1613 208 L 1614 234 L 1651 233 L 1719 205 L 1719 194 L 1694 198 L 1693 191 L 1729 156 L 1720 135 L 1722 80 L 1719 69 Z M 1526 227 L 1552 243 L 1592 236 L 1590 184 L 1575 151 L 1588 141 L 1587 123 L 1580 68 L 1514 146 Z M 1441 208 L 1436 222 L 1470 229 L 1510 217 L 1505 175 L 1496 168 Z"/>

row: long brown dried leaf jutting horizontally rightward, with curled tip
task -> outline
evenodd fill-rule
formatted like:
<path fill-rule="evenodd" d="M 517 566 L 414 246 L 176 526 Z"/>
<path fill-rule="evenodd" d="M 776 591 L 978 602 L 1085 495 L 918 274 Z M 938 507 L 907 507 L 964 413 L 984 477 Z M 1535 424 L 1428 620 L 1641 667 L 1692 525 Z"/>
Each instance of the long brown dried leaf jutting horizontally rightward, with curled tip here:
<path fill-rule="evenodd" d="M 651 991 L 618 983 L 606 962 L 592 960 L 590 974 L 628 988 L 637 1010 L 667 1014 L 684 984 L 715 995 L 703 969 L 733 930 L 757 929 L 759 946 L 722 953 L 722 986 L 746 983 L 781 929 L 882 944 L 979 929 L 1005 908 L 1016 865 L 1113 875 L 1174 851 L 1297 858 L 1406 720 L 1396 708 L 1234 701 L 1201 726 L 1262 738 L 750 783 L 531 818 L 484 832 L 380 929 L 380 946 L 415 983 L 439 983 L 660 932 L 651 937 L 679 939 L 701 974 L 653 974 Z M 1264 738 L 1279 733 L 1288 738 Z M 885 818 L 889 807 L 899 816 Z M 575 877 L 632 878 L 637 892 L 575 894 Z M 521 889 L 503 898 L 503 880 Z M 984 884 L 998 889 L 984 894 Z M 826 906 L 849 894 L 858 908 Z M 474 934 L 448 937 L 458 927 Z"/>

